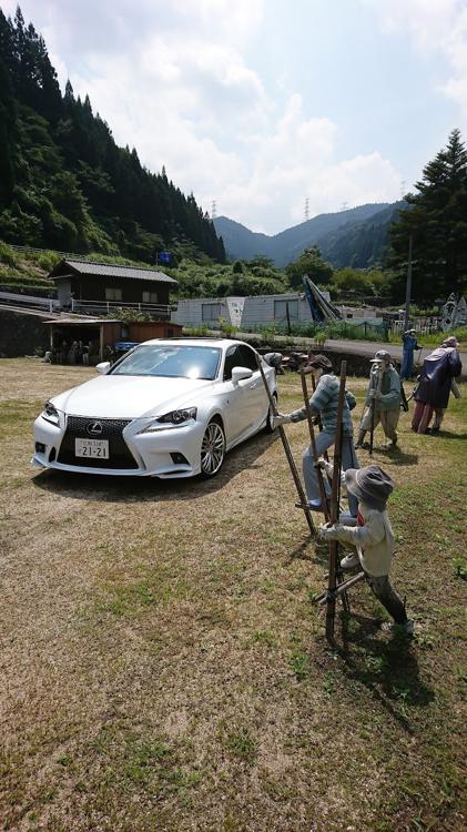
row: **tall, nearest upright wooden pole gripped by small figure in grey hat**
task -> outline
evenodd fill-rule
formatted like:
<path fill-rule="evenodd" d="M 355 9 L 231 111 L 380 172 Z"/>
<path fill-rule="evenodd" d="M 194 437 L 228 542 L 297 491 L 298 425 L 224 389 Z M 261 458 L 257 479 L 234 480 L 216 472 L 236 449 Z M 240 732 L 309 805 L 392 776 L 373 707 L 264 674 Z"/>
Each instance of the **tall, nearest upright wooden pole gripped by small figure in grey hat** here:
<path fill-rule="evenodd" d="M 336 419 L 336 442 L 334 445 L 334 470 L 333 470 L 333 490 L 331 495 L 331 522 L 334 525 L 339 519 L 339 486 L 341 486 L 341 464 L 342 464 L 342 439 L 343 439 L 343 424 L 342 417 L 344 413 L 345 402 L 345 382 L 347 374 L 347 362 L 341 363 L 341 384 L 339 394 L 337 402 L 337 419 Z M 337 558 L 338 558 L 338 542 L 337 540 L 329 540 L 329 575 L 327 582 L 327 602 L 326 602 L 326 638 L 329 645 L 334 646 L 334 621 L 336 615 L 336 598 L 335 591 L 337 588 Z"/>

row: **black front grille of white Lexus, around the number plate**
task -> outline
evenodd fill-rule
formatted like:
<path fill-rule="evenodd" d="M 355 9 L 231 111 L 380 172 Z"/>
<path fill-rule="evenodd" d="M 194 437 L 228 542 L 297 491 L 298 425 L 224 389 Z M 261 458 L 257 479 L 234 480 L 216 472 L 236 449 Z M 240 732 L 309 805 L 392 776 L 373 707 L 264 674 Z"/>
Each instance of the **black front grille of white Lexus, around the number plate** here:
<path fill-rule="evenodd" d="M 87 432 L 88 425 L 99 422 L 102 433 L 93 436 Z M 123 428 L 131 419 L 89 419 L 83 416 L 68 416 L 67 430 L 60 446 L 57 461 L 83 468 L 138 468 L 138 463 L 122 436 Z M 109 459 L 74 456 L 74 439 L 108 439 Z"/>

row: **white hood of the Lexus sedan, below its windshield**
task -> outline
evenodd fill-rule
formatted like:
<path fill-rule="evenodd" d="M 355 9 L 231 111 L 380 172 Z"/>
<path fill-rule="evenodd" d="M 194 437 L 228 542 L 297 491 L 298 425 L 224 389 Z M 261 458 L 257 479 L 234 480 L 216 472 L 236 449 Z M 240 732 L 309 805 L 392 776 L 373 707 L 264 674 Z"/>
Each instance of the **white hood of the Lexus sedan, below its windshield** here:
<path fill-rule="evenodd" d="M 162 416 L 177 407 L 191 407 L 213 382 L 199 378 L 105 375 L 54 396 L 59 410 L 101 419 Z"/>

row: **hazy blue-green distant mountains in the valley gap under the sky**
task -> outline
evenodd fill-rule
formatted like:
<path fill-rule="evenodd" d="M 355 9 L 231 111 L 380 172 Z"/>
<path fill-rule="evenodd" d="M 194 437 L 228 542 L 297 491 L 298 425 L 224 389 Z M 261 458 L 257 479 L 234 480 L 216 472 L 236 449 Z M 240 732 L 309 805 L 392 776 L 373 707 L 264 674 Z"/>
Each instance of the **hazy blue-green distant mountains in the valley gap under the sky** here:
<path fill-rule="evenodd" d="M 404 203 L 359 205 L 335 214 L 319 214 L 307 222 L 268 236 L 220 216 L 214 220 L 227 254 L 236 260 L 264 255 L 277 266 L 296 260 L 305 248 L 317 245 L 333 266 L 366 268 L 383 260 L 389 226 Z"/>

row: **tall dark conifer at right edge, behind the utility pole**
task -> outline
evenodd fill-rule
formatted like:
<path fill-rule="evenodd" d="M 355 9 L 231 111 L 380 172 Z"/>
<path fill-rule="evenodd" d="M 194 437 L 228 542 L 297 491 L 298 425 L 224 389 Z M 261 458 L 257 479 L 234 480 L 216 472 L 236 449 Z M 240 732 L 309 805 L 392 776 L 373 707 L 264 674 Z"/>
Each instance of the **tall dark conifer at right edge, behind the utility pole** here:
<path fill-rule="evenodd" d="M 387 265 L 395 271 L 395 296 L 404 297 L 410 235 L 413 300 L 459 295 L 467 287 L 467 152 L 459 130 L 426 165 L 416 190 L 390 231 Z"/>

